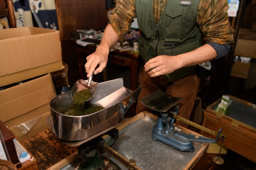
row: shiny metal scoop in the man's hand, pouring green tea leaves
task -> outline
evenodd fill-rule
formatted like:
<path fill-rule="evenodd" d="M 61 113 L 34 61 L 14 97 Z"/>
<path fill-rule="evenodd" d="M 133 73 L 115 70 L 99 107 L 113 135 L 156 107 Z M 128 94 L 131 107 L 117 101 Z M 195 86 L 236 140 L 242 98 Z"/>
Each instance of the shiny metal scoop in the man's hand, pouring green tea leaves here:
<path fill-rule="evenodd" d="M 71 89 L 70 95 L 72 97 L 72 99 L 74 99 L 74 94 L 78 91 L 81 90 L 90 90 L 90 98 L 86 101 L 89 101 L 94 93 L 94 91 L 96 90 L 98 83 L 97 82 L 93 82 L 92 81 L 92 77 L 94 75 L 94 71 L 92 73 L 92 75 L 87 79 L 87 80 L 82 80 L 79 79 L 78 81 L 76 81 L 76 83 L 74 84 L 74 86 Z"/>

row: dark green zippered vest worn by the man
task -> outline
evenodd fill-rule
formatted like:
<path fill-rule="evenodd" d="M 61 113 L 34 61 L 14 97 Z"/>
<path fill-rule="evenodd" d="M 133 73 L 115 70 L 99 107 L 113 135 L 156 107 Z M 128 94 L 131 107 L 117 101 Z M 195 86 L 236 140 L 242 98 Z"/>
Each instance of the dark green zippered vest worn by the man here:
<path fill-rule="evenodd" d="M 152 1 L 135 0 L 141 30 L 139 51 L 145 63 L 158 55 L 171 57 L 202 45 L 202 34 L 196 25 L 199 0 L 168 0 L 158 26 L 154 22 Z M 172 81 L 187 75 L 195 67 L 183 67 L 163 77 Z"/>

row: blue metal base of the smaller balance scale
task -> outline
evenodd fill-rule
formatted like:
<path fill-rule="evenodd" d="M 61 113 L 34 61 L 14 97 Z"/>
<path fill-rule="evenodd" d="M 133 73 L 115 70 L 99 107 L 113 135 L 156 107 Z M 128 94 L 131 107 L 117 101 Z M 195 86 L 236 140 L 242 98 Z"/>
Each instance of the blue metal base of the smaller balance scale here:
<path fill-rule="evenodd" d="M 178 150 L 194 152 L 193 142 L 183 140 L 175 136 L 175 132 L 172 130 L 170 133 L 166 134 L 164 129 L 157 128 L 157 125 L 154 125 L 152 131 L 152 139 L 159 140 L 165 144 L 168 144 Z"/>

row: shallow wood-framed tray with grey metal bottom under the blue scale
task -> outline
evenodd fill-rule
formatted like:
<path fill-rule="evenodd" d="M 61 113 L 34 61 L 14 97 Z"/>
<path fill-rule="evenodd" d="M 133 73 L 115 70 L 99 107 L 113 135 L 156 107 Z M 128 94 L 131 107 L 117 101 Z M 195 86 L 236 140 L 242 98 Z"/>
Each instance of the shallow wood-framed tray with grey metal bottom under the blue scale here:
<path fill-rule="evenodd" d="M 139 113 L 118 127 L 119 138 L 112 146 L 126 159 L 136 160 L 136 166 L 142 170 L 186 170 L 191 169 L 208 148 L 208 143 L 194 142 L 194 152 L 180 151 L 158 140 L 151 139 L 151 133 L 157 117 L 146 111 Z M 184 130 L 186 130 L 184 128 Z M 191 133 L 197 134 L 196 132 Z M 108 153 L 102 154 L 114 161 L 122 170 L 127 168 Z M 77 155 L 74 156 L 77 158 Z M 74 170 L 80 162 L 62 166 L 60 170 Z M 74 165 L 75 164 L 75 165 Z"/>

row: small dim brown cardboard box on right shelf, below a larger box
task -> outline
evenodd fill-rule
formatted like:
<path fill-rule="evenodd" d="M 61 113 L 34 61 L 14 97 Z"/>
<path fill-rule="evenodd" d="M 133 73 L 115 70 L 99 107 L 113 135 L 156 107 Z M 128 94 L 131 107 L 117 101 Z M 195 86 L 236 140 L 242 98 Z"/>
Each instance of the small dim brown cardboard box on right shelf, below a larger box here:
<path fill-rule="evenodd" d="M 242 63 L 240 61 L 234 62 L 230 75 L 234 77 L 239 77 L 247 79 L 250 71 L 251 63 Z"/>

